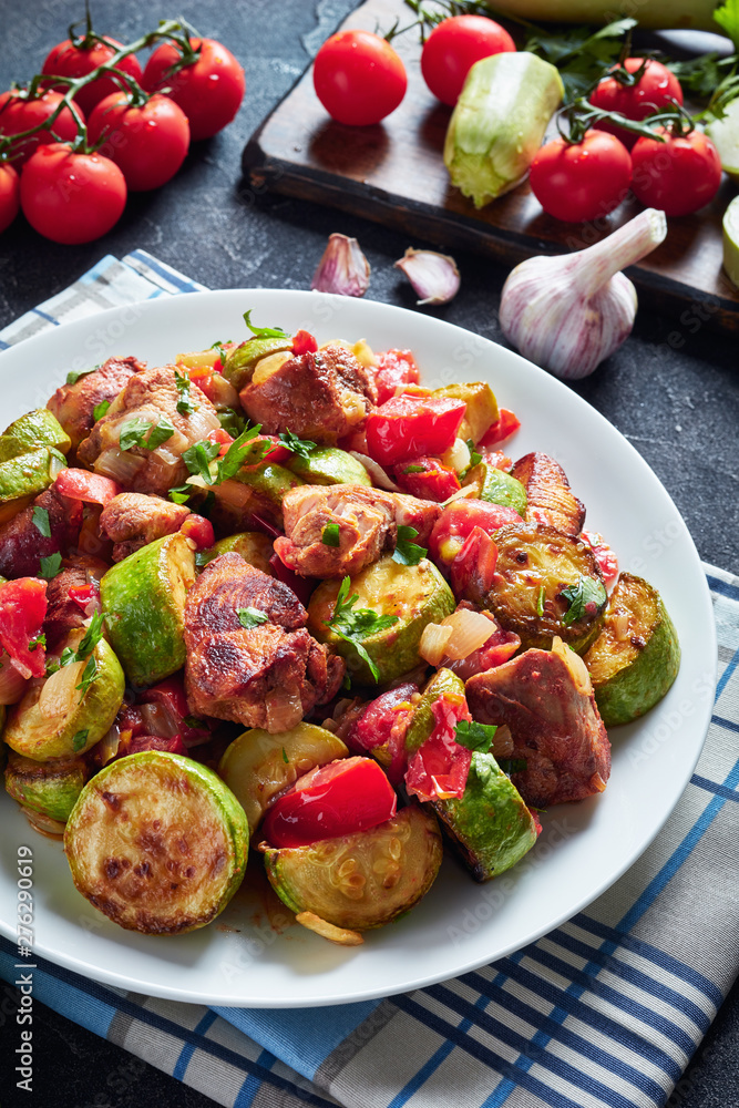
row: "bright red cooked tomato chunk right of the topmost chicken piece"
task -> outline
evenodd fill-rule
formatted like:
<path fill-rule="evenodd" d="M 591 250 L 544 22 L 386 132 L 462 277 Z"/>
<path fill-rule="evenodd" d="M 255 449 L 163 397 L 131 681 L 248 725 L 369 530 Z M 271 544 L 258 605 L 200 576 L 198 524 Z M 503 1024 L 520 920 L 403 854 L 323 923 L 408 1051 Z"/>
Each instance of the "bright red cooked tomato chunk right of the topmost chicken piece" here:
<path fill-rule="evenodd" d="M 392 465 L 407 458 L 443 454 L 454 442 L 465 411 L 464 401 L 451 397 L 402 393 L 386 400 L 367 420 L 369 455 L 380 465 Z"/>

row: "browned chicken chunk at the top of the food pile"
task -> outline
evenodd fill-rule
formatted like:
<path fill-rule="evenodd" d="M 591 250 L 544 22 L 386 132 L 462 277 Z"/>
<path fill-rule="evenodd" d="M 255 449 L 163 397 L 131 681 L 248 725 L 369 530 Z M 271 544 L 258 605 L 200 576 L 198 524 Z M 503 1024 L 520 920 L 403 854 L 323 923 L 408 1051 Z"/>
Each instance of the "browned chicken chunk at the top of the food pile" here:
<path fill-rule="evenodd" d="M 335 447 L 365 425 L 377 403 L 377 384 L 351 350 L 328 346 L 287 360 L 281 355 L 263 359 L 239 398 L 266 434 L 290 430 Z"/>

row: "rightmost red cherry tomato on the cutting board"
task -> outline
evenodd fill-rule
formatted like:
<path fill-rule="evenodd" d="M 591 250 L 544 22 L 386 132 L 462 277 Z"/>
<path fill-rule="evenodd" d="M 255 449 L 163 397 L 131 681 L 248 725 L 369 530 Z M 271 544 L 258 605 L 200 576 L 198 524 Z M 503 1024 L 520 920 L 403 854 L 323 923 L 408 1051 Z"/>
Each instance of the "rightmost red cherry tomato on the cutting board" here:
<path fill-rule="evenodd" d="M 639 138 L 632 151 L 634 194 L 665 215 L 690 215 L 716 196 L 721 184 L 721 160 L 702 131 L 677 136 L 664 127 L 657 138 Z"/>

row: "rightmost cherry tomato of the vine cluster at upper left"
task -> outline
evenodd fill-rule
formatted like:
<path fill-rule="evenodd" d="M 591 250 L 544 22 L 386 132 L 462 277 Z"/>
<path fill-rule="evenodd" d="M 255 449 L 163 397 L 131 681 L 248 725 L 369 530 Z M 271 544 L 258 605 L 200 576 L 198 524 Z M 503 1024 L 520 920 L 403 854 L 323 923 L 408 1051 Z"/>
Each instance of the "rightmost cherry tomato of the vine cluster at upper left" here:
<path fill-rule="evenodd" d="M 146 62 L 143 85 L 147 92 L 166 91 L 179 104 L 189 121 L 189 136 L 197 141 L 209 138 L 230 123 L 244 100 L 246 81 L 244 70 L 220 42 L 189 42 L 194 50 L 199 48 L 197 61 L 170 75 L 182 51 L 173 42 L 165 42 Z"/>

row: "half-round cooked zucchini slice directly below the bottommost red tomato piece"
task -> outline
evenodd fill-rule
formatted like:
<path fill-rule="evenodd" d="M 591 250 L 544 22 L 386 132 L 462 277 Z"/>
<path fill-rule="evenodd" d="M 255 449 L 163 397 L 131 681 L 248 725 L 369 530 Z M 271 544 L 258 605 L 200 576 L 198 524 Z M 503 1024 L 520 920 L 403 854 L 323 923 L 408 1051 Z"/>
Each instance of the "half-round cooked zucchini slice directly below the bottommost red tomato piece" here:
<path fill-rule="evenodd" d="M 267 876 L 292 912 L 312 912 L 350 931 L 370 931 L 407 912 L 441 865 L 435 817 L 414 804 L 370 831 L 310 847 L 265 849 Z"/>

